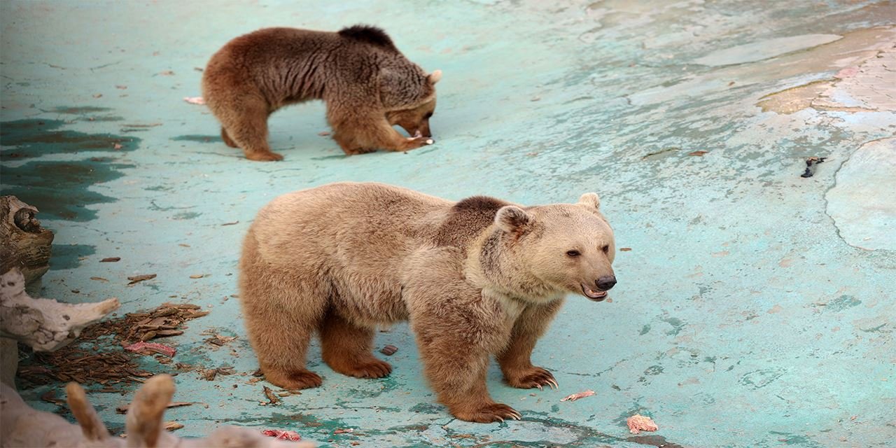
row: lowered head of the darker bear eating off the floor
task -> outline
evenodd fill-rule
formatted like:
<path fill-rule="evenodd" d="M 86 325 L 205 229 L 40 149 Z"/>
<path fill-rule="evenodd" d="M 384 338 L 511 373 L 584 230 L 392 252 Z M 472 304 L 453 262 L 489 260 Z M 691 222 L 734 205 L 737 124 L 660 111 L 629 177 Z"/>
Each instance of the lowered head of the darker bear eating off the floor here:
<path fill-rule="evenodd" d="M 442 79 L 442 71 L 399 74 L 383 70 L 380 75 L 380 99 L 389 124 L 400 125 L 412 137 L 432 137 L 429 118 L 435 112 L 435 83 Z"/>

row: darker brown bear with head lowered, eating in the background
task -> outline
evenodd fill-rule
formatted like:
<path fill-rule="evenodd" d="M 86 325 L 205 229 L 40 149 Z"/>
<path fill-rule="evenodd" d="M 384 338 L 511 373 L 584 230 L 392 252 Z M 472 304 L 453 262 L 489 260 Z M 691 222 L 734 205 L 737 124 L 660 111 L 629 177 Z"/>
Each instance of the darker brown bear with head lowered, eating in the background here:
<path fill-rule="evenodd" d="M 441 77 L 410 62 L 379 28 L 266 28 L 211 56 L 202 97 L 221 123 L 221 138 L 246 159 L 283 159 L 268 145 L 268 116 L 311 99 L 326 102 L 332 138 L 346 154 L 408 151 L 433 143 L 429 117 Z"/>

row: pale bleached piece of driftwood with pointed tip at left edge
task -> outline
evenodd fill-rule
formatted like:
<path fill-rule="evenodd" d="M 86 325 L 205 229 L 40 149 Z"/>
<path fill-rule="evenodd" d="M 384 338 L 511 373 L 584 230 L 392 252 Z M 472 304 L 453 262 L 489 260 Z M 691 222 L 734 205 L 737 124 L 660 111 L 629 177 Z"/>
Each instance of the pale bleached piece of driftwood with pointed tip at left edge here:
<path fill-rule="evenodd" d="M 84 327 L 118 308 L 118 299 L 90 304 L 65 304 L 29 297 L 18 269 L 0 276 L 0 336 L 18 340 L 35 351 L 64 347 Z"/>

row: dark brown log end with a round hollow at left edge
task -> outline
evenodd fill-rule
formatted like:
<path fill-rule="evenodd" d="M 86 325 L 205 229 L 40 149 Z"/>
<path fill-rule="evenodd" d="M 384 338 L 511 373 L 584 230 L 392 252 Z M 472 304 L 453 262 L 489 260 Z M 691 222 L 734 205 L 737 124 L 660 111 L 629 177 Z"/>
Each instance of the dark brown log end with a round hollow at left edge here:
<path fill-rule="evenodd" d="M 49 271 L 53 232 L 40 227 L 37 207 L 0 196 L 0 272 L 19 268 L 30 285 Z"/>

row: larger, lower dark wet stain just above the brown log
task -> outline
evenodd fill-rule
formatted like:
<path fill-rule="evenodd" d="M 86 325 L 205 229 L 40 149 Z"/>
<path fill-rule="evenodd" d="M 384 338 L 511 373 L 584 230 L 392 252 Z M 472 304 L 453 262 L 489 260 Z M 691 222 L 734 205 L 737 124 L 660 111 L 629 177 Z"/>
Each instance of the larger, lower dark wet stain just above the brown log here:
<path fill-rule="evenodd" d="M 89 190 L 124 176 L 122 168 L 133 165 L 109 163 L 108 159 L 78 161 L 30 161 L 18 167 L 2 167 L 0 193 L 13 194 L 38 208 L 41 218 L 89 221 L 97 212 L 88 205 L 115 202 L 115 198 Z"/>

